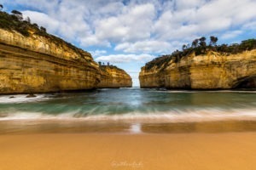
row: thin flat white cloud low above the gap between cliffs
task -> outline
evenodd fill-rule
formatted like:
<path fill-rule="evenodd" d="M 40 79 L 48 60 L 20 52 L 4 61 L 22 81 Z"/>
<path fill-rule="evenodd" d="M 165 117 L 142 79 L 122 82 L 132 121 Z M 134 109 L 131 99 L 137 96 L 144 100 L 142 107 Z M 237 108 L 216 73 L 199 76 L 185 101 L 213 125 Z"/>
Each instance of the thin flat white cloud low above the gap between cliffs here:
<path fill-rule="evenodd" d="M 111 54 L 96 58 L 96 61 L 111 62 L 111 63 L 128 63 L 132 61 L 147 62 L 154 59 L 155 56 L 150 54 Z"/>

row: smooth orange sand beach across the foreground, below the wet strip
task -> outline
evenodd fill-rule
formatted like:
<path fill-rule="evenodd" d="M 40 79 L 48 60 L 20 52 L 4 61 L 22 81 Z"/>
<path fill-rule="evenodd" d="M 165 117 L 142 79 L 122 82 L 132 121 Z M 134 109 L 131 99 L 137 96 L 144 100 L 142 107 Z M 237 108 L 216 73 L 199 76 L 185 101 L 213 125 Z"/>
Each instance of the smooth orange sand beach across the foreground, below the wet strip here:
<path fill-rule="evenodd" d="M 0 169 L 255 169 L 256 133 L 0 135 Z"/>

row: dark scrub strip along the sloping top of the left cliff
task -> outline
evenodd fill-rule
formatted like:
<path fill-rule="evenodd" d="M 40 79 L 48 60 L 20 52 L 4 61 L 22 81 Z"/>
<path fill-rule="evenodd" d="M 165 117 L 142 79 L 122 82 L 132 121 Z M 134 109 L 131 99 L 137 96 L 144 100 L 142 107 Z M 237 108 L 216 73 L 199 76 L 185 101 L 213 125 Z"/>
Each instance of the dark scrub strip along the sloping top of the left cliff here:
<path fill-rule="evenodd" d="M 50 41 L 55 42 L 55 44 L 66 44 L 68 48 L 72 48 L 76 53 L 81 54 L 81 56 L 84 56 L 84 54 L 82 53 L 90 55 L 90 53 L 85 52 L 83 49 L 77 48 L 73 46 L 71 43 L 65 42 L 61 38 L 55 37 L 47 33 L 46 29 L 43 26 L 39 27 L 35 23 L 32 24 L 29 18 L 23 20 L 22 14 L 15 15 L 0 11 L 0 28 L 2 28 L 3 30 L 20 32 L 20 34 L 22 34 L 25 37 L 29 37 L 31 35 L 30 31 L 33 31 L 34 34 L 37 34 L 41 37 L 45 37 Z"/>

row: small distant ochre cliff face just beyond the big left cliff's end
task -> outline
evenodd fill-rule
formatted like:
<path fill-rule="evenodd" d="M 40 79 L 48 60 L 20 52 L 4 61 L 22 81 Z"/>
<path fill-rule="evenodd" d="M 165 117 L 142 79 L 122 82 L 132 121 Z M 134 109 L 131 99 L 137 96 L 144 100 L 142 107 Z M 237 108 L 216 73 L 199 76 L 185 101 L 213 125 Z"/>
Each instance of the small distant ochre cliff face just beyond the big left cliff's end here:
<path fill-rule="evenodd" d="M 102 65 L 101 82 L 97 88 L 131 88 L 131 77 L 123 70 L 116 66 Z"/>

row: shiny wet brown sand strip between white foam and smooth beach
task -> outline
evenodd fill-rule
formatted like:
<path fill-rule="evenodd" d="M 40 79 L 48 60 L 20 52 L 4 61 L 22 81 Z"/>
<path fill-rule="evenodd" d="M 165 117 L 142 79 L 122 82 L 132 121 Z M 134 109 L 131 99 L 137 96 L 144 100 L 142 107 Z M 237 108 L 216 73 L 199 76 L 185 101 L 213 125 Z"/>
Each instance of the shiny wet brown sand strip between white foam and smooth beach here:
<path fill-rule="evenodd" d="M 256 121 L 216 122 L 84 122 L 84 121 L 6 121 L 0 134 L 7 133 L 227 133 L 256 132 Z"/>

